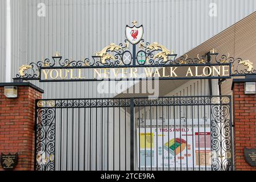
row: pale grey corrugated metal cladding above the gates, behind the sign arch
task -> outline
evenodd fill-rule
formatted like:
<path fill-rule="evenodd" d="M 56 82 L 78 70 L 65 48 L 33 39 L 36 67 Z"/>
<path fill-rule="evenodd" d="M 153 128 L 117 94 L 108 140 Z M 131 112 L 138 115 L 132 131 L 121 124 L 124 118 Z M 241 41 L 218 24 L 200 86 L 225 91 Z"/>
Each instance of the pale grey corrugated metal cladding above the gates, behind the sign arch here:
<path fill-rule="evenodd" d="M 38 16 L 45 3 L 46 16 Z M 216 3 L 217 16 L 210 16 Z M 1 0 L 1 77 L 5 81 L 5 1 Z M 12 73 L 22 64 L 50 57 L 90 57 L 109 43 L 125 39 L 125 26 L 138 20 L 148 42 L 159 42 L 179 55 L 205 42 L 256 10 L 254 0 L 11 0 Z M 96 82 L 38 83 L 45 98 L 107 97 Z M 110 95 L 111 96 L 111 95 Z"/>

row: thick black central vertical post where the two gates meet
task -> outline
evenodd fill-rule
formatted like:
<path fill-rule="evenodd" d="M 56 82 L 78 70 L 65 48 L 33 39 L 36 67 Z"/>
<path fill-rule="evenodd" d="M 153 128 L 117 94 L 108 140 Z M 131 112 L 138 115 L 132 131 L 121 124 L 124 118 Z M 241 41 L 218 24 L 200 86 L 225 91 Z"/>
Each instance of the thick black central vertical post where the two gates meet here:
<path fill-rule="evenodd" d="M 134 98 L 130 103 L 130 170 L 134 171 Z"/>

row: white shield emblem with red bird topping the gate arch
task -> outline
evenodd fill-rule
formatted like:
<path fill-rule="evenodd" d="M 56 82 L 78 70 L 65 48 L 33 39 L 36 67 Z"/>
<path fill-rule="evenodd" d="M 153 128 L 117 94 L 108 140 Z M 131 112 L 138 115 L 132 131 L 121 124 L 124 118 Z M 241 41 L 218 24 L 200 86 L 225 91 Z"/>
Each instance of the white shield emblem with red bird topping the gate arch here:
<path fill-rule="evenodd" d="M 143 26 L 136 27 L 135 25 L 133 27 L 126 26 L 125 27 L 125 36 L 126 39 L 131 44 L 138 44 L 138 42 L 142 39 L 143 36 Z"/>

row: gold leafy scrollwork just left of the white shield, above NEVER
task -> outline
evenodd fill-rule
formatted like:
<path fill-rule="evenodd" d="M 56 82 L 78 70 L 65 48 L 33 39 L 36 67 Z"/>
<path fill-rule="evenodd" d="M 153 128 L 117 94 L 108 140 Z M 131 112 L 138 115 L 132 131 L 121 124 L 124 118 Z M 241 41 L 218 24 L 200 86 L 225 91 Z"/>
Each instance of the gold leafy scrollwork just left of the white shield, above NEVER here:
<path fill-rule="evenodd" d="M 118 51 L 119 49 L 122 49 L 122 47 L 118 46 L 117 44 L 111 43 L 109 46 L 106 46 L 105 48 L 103 48 L 100 52 L 95 52 L 95 56 L 101 57 L 101 63 L 105 64 L 106 60 L 111 60 L 111 59 L 115 60 L 115 57 L 107 53 L 107 51 L 112 52 L 112 51 Z"/>

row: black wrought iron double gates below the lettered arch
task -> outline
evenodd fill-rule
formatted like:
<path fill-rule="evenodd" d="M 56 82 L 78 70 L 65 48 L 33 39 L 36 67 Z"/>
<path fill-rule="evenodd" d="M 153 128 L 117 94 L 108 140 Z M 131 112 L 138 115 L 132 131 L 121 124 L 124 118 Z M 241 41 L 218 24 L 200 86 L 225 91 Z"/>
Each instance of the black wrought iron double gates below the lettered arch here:
<path fill-rule="evenodd" d="M 230 96 L 36 105 L 36 170 L 233 169 Z"/>

